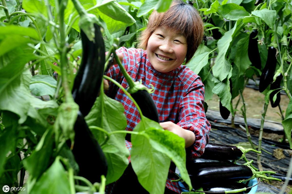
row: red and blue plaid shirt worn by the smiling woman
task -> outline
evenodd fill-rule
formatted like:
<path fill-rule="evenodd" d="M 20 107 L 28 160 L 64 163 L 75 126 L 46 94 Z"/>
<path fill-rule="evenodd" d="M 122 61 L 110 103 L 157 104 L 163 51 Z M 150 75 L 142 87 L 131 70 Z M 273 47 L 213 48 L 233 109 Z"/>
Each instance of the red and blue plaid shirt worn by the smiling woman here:
<path fill-rule="evenodd" d="M 151 88 L 150 84 L 154 85 L 154 93 L 150 95 L 157 106 L 159 121 L 171 121 L 194 132 L 196 140 L 186 149 L 187 159 L 200 157 L 209 141 L 211 129 L 203 107 L 204 85 L 200 77 L 185 65 L 181 65 L 170 73 L 158 72 L 150 64 L 146 51 L 142 49 L 121 47 L 116 52 L 123 53 L 122 64 L 133 81 L 141 80 L 142 84 L 148 88 Z M 107 72 L 107 76 L 118 81 L 124 88 L 128 87 L 118 65 L 113 65 Z M 140 122 L 140 117 L 131 99 L 113 83 L 109 83 L 106 94 L 123 104 L 128 123 L 126 130 L 132 131 Z M 131 151 L 131 142 L 126 141 L 126 146 Z M 171 169 L 169 174 L 174 174 L 174 170 Z M 166 187 L 180 193 L 178 183 L 171 182 L 171 179 L 177 179 L 177 177 L 169 176 Z"/>

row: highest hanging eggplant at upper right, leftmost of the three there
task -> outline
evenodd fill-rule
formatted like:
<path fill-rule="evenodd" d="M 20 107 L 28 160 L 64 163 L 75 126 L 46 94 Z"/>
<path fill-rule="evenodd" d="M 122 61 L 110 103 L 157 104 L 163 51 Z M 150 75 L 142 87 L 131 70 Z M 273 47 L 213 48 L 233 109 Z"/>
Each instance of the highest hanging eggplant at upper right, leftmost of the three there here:
<path fill-rule="evenodd" d="M 261 69 L 262 62 L 260 60 L 260 53 L 258 51 L 258 39 L 256 38 L 257 35 L 258 35 L 257 30 L 253 30 L 249 35 L 248 58 L 254 67 Z"/>

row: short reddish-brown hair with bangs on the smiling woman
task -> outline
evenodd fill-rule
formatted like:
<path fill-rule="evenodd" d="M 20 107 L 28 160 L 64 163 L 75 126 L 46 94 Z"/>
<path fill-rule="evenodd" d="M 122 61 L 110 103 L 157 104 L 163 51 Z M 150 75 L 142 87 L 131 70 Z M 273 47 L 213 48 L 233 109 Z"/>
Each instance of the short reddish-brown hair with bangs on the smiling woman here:
<path fill-rule="evenodd" d="M 186 63 L 189 62 L 204 34 L 204 23 L 199 12 L 181 0 L 173 0 L 170 8 L 164 13 L 153 11 L 147 28 L 138 37 L 138 47 L 146 50 L 149 37 L 159 27 L 173 29 L 185 36 L 187 39 Z"/>

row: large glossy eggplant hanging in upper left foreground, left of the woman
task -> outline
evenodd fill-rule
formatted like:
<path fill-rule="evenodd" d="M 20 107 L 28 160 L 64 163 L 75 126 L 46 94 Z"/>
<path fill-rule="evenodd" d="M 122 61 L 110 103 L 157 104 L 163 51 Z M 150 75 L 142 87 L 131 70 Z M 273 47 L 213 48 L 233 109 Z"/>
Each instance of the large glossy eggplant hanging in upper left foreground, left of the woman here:
<path fill-rule="evenodd" d="M 72 89 L 74 101 L 84 117 L 100 92 L 105 67 L 105 43 L 100 27 L 94 24 L 94 29 L 94 41 L 90 41 L 81 29 L 82 61 Z"/>

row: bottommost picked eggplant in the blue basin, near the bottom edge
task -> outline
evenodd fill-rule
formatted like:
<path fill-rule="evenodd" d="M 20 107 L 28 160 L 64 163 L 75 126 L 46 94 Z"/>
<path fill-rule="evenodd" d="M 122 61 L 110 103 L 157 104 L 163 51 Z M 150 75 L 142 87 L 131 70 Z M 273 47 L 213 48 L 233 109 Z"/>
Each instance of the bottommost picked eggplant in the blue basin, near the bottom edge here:
<path fill-rule="evenodd" d="M 248 186 L 244 183 L 237 183 L 237 182 L 231 182 L 231 183 L 220 183 L 220 184 L 209 184 L 209 185 L 203 185 L 203 190 L 204 191 L 212 191 L 212 192 L 216 192 L 218 194 L 225 194 L 225 190 L 229 191 L 229 190 L 234 190 L 234 189 L 241 189 L 241 188 L 247 188 Z M 238 192 L 238 194 L 244 194 L 244 193 L 248 193 L 251 190 L 251 188 L 242 191 L 242 192 Z M 219 192 L 222 191 L 222 192 Z"/>

